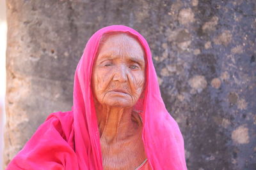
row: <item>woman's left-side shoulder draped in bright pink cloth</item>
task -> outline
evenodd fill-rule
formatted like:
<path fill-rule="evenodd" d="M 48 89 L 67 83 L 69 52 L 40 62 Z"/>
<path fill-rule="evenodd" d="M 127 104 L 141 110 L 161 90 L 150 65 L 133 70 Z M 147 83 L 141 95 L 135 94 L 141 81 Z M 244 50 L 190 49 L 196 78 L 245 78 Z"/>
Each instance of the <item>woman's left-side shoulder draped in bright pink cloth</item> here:
<path fill-rule="evenodd" d="M 77 161 L 72 115 L 72 111 L 51 113 L 7 169 L 64 169 L 72 166 L 72 162 Z"/>

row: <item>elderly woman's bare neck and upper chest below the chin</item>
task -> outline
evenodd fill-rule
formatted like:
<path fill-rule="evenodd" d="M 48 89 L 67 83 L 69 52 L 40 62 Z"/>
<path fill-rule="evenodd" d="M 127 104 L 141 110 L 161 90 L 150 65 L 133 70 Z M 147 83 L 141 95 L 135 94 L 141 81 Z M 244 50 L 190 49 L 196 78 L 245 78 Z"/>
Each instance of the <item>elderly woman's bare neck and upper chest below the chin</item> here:
<path fill-rule="evenodd" d="M 104 169 L 135 169 L 147 158 L 140 116 L 131 108 L 96 106 Z"/>

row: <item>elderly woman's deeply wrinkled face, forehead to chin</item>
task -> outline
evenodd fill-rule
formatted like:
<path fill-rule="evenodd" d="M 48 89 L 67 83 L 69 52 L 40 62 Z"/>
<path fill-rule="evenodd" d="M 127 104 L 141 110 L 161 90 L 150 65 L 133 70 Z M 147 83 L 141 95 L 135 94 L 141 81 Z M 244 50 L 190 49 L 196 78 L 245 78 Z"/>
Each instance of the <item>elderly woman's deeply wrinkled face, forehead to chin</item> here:
<path fill-rule="evenodd" d="M 93 94 L 102 105 L 130 108 L 143 92 L 144 51 L 127 34 L 108 35 L 100 43 L 93 66 Z"/>

